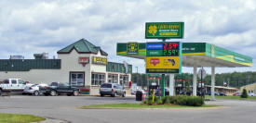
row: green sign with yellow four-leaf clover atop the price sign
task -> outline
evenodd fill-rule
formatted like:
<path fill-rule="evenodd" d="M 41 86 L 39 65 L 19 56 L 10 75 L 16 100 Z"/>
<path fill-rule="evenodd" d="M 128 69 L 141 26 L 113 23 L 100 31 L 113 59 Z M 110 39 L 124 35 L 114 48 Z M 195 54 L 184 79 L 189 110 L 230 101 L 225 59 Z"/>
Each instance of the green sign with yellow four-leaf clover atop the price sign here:
<path fill-rule="evenodd" d="M 146 39 L 183 38 L 184 22 L 147 22 Z"/>

